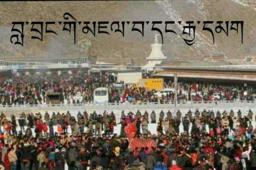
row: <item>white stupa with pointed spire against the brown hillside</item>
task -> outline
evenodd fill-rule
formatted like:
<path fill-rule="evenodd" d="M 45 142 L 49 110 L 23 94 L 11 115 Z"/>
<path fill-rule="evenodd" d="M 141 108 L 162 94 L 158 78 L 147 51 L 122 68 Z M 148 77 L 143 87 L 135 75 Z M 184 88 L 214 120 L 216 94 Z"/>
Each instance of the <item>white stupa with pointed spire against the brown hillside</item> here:
<path fill-rule="evenodd" d="M 151 44 L 151 54 L 146 58 L 147 64 L 142 67 L 146 71 L 153 71 L 156 64 L 161 64 L 163 60 L 167 59 L 162 53 L 162 44 L 158 42 L 158 34 L 155 34 L 155 42 Z"/>

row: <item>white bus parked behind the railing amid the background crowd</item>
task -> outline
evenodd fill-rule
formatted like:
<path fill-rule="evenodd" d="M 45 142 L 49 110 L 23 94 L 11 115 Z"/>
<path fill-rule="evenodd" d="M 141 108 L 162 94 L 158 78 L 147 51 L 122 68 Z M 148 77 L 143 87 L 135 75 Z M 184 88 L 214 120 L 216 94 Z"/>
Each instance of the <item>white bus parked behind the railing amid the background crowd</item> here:
<path fill-rule="evenodd" d="M 108 103 L 108 88 L 99 87 L 94 90 L 94 103 Z"/>

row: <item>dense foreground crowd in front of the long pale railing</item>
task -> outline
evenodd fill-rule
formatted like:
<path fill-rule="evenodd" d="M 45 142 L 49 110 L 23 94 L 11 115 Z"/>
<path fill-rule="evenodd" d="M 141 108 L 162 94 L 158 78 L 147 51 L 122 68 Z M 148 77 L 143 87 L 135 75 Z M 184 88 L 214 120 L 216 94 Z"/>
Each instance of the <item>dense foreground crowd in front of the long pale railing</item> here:
<path fill-rule="evenodd" d="M 0 169 L 65 169 L 65 165 L 68 169 L 93 170 L 256 168 L 256 129 L 251 110 L 152 110 L 143 114 L 137 110 L 123 111 L 118 119 L 113 112 L 85 111 L 76 117 L 69 112 L 46 112 L 43 116 L 21 113 L 17 118 L 1 113 L 0 119 Z M 136 138 L 155 140 L 156 145 L 133 151 L 125 131 L 131 123 L 136 125 Z M 157 134 L 151 134 L 154 123 Z M 117 127 L 119 134 L 113 133 Z"/>

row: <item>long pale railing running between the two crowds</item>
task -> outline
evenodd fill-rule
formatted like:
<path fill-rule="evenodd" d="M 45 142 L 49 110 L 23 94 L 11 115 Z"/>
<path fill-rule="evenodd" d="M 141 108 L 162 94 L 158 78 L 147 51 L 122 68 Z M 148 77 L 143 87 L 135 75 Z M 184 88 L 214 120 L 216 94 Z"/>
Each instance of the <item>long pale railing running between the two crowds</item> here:
<path fill-rule="evenodd" d="M 256 101 L 249 100 L 232 100 L 232 101 L 214 101 L 208 102 L 178 102 L 176 104 L 177 109 L 190 109 L 190 108 L 201 108 L 201 107 L 246 107 L 256 108 Z M 82 104 L 25 104 L 25 105 L 0 105 L 0 112 L 17 112 L 17 111 L 28 111 L 28 110 L 78 110 L 78 109 L 174 109 L 174 102 L 166 103 L 82 103 Z"/>

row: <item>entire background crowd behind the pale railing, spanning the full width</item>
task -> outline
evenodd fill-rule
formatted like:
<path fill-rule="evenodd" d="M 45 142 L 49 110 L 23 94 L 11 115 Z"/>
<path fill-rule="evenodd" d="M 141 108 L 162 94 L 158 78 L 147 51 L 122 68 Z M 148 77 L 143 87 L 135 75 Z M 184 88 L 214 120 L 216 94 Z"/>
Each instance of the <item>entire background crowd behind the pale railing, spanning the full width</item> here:
<path fill-rule="evenodd" d="M 111 84 L 108 74 L 88 74 L 79 71 L 61 74 L 40 73 L 30 75 L 15 75 L 9 79 L 0 80 L 1 93 L 0 104 L 42 104 L 46 102 L 46 94 L 49 91 L 59 92 L 62 103 L 86 103 L 93 102 L 93 91 L 97 87 L 108 87 L 109 101 L 114 102 L 170 102 L 174 101 L 174 93 L 165 96 L 156 96 L 155 91 L 149 91 L 145 87 L 129 87 L 125 82 L 117 89 Z M 165 87 L 174 88 L 172 81 L 165 82 Z M 178 102 L 187 100 L 209 101 L 209 100 L 254 100 L 255 88 L 248 86 L 238 90 L 234 86 L 220 86 L 220 84 L 178 83 Z M 207 92 L 206 92 L 207 91 Z M 238 92 L 239 91 L 239 92 Z M 244 92 L 247 94 L 244 94 Z M 75 99 L 81 94 L 82 100 Z M 218 97 L 214 96 L 218 93 Z"/>

